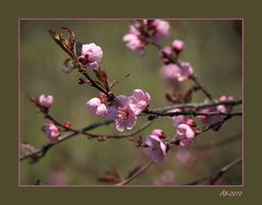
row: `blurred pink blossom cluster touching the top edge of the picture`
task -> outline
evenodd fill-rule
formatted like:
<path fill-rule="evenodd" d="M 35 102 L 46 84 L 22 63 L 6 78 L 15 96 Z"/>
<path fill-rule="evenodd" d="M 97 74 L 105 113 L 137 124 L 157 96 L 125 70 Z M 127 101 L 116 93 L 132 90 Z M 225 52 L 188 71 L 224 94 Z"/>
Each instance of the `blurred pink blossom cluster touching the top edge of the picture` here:
<path fill-rule="evenodd" d="M 147 44 L 159 41 L 169 34 L 170 25 L 164 20 L 141 20 L 130 26 L 129 33 L 123 36 L 123 41 L 131 50 L 144 53 Z"/>

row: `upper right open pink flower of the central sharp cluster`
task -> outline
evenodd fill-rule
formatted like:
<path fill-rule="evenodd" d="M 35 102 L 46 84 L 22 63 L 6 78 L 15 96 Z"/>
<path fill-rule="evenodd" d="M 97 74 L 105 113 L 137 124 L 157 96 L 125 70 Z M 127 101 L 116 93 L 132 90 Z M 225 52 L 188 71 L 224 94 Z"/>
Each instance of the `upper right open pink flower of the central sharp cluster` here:
<path fill-rule="evenodd" d="M 130 98 L 130 108 L 135 114 L 140 114 L 150 104 L 151 96 L 142 89 L 134 89 Z"/>

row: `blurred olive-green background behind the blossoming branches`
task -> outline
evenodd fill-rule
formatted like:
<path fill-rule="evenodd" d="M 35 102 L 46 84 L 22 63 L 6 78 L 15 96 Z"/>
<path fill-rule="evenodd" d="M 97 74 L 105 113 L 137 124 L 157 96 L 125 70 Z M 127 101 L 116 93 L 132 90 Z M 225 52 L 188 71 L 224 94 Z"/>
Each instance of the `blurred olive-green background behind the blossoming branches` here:
<path fill-rule="evenodd" d="M 21 22 L 21 142 L 28 142 L 35 147 L 47 143 L 41 132 L 45 122 L 41 113 L 29 102 L 28 96 L 41 94 L 55 98 L 51 114 L 60 122 L 70 121 L 72 128 L 82 128 L 99 121 L 86 109 L 86 101 L 96 96 L 92 87 L 78 84 L 79 73 L 64 74 L 62 62 L 68 58 L 47 33 L 48 28 L 61 26 L 74 31 L 83 44 L 95 43 L 103 48 L 102 68 L 110 79 L 131 76 L 115 87 L 116 94 L 129 95 L 134 88 L 142 88 L 152 96 L 151 107 L 169 105 L 165 99 L 168 89 L 159 77 L 162 62 L 158 51 L 148 47 L 144 56 L 130 51 L 122 41 L 128 33 L 129 21 L 29 21 Z M 170 35 L 162 41 L 168 45 L 175 38 L 186 44 L 181 59 L 189 61 L 199 80 L 214 97 L 233 95 L 241 98 L 241 21 L 175 21 L 169 20 Z M 183 86 L 192 85 L 191 82 Z M 203 101 L 204 96 L 198 93 L 194 101 Z M 139 120 L 135 128 L 143 123 Z M 169 137 L 175 129 L 169 119 L 162 119 L 141 133 L 146 136 L 153 128 L 166 131 Z M 116 133 L 114 125 L 94 130 L 94 133 Z M 241 119 L 228 121 L 219 132 L 209 131 L 194 141 L 192 146 L 216 142 L 235 134 L 241 134 Z M 241 138 L 222 147 L 206 150 L 187 149 L 192 165 L 183 165 L 177 154 L 182 148 L 170 150 L 163 164 L 152 166 L 132 184 L 158 184 L 167 172 L 171 173 L 171 184 L 183 184 L 216 171 L 218 168 L 241 156 Z M 105 184 L 97 179 L 106 171 L 117 169 L 123 177 L 148 159 L 146 150 L 133 146 L 128 140 L 108 140 L 97 142 L 83 135 L 66 141 L 51 148 L 39 162 L 29 165 L 21 162 L 21 184 Z M 234 167 L 218 183 L 241 184 L 241 166 Z M 159 179 L 160 178 L 160 179 Z"/>

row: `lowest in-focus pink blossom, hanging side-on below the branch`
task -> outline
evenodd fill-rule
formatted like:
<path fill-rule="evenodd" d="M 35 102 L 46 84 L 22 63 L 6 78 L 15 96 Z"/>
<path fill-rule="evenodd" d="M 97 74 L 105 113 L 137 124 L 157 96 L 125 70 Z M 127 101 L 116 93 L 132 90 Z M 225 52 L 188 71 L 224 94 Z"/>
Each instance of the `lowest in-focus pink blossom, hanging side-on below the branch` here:
<path fill-rule="evenodd" d="M 150 147 L 150 156 L 160 162 L 164 160 L 167 152 L 166 144 L 163 140 L 154 134 L 148 135 L 145 138 L 145 144 Z"/>

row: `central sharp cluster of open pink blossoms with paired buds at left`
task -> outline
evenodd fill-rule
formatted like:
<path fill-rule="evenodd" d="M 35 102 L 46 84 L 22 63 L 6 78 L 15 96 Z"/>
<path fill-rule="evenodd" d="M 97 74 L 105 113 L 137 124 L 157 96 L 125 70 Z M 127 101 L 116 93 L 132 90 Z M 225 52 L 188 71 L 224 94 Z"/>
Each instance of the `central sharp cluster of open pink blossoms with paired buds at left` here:
<path fill-rule="evenodd" d="M 119 95 L 110 105 L 106 105 L 106 96 L 94 97 L 87 101 L 87 108 L 97 117 L 108 117 L 116 122 L 119 132 L 132 130 L 139 116 L 150 104 L 151 96 L 142 89 L 134 89 L 132 95 Z"/>

